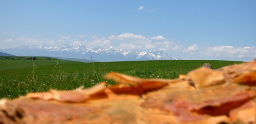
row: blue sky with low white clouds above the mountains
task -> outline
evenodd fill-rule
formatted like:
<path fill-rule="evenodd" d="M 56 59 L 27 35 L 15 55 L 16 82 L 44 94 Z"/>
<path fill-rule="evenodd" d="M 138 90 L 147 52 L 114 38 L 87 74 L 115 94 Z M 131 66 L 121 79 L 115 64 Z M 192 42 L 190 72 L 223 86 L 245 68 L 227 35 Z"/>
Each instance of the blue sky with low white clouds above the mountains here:
<path fill-rule="evenodd" d="M 256 1 L 0 0 L 1 49 L 65 43 L 252 61 Z"/>

